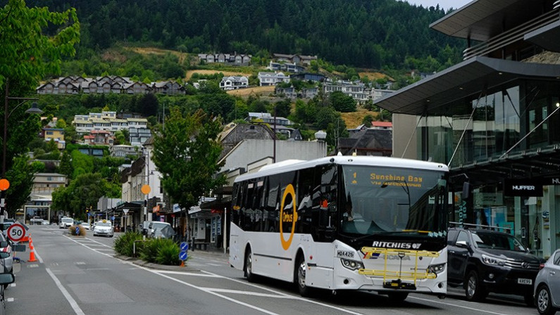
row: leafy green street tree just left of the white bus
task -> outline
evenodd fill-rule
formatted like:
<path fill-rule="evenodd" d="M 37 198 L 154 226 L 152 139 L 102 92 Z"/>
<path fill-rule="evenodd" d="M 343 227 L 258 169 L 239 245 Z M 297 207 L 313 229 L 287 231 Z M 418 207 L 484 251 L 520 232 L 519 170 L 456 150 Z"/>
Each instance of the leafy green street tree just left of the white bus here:
<path fill-rule="evenodd" d="M 225 183 L 216 175 L 222 144 L 219 119 L 199 110 L 183 116 L 177 107 L 166 119 L 166 128 L 154 135 L 153 159 L 161 172 L 161 184 L 174 203 L 183 209 L 199 204 L 205 194 Z"/>

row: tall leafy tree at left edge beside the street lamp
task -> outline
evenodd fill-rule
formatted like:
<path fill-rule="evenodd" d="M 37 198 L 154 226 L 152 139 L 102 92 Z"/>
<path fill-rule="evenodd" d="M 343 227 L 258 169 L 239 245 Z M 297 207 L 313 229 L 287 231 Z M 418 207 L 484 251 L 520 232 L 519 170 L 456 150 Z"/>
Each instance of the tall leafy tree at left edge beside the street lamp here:
<path fill-rule="evenodd" d="M 54 26 L 54 27 L 53 27 Z M 8 0 L 0 8 L 0 93 L 2 96 L 25 97 L 47 74 L 60 73 L 61 59 L 75 54 L 80 40 L 80 23 L 75 8 L 62 13 L 48 8 L 28 8 L 23 0 Z M 8 94 L 6 94 L 8 90 Z M 33 185 L 32 171 L 23 166 L 27 144 L 41 127 L 39 117 L 26 116 L 27 106 L 12 105 L 6 138 L 6 178 L 11 187 L 6 191 L 8 214 L 29 198 Z M 6 113 L 1 111 L 0 116 Z M 14 123 L 22 121 L 22 123 Z M 11 170 L 11 168 L 13 168 Z M 9 175 L 8 175 L 9 173 Z M 11 211 L 11 212 L 10 212 Z"/>

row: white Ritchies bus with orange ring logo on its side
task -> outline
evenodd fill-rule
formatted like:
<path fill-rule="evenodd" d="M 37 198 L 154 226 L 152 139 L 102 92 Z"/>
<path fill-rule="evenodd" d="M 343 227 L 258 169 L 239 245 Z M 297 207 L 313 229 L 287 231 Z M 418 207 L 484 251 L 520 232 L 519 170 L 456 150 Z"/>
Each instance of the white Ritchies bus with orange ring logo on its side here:
<path fill-rule="evenodd" d="M 332 156 L 275 163 L 233 185 L 230 264 L 313 288 L 447 293 L 442 163 Z"/>

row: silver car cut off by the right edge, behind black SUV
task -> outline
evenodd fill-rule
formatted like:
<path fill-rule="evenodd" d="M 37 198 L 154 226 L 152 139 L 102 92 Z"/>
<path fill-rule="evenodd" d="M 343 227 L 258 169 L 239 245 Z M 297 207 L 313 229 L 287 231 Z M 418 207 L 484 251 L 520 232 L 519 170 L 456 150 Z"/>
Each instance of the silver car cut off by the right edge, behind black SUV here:
<path fill-rule="evenodd" d="M 556 249 L 537 274 L 535 305 L 539 314 L 545 315 L 560 309 L 560 249 Z"/>

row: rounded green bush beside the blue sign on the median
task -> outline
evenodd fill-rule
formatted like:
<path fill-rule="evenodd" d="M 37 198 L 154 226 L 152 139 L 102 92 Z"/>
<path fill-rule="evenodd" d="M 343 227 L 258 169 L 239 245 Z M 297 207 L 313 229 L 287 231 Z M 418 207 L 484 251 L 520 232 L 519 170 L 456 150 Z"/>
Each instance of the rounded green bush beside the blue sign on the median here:
<path fill-rule="evenodd" d="M 152 238 L 144 242 L 140 259 L 162 265 L 178 265 L 179 245 L 168 238 Z"/>

